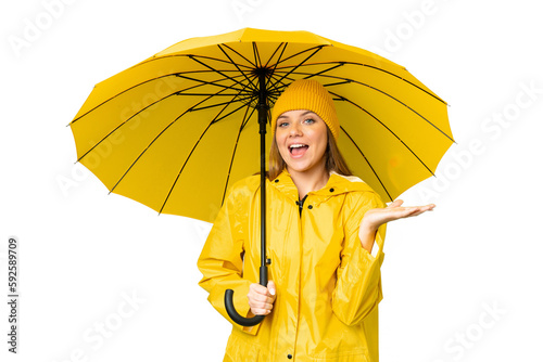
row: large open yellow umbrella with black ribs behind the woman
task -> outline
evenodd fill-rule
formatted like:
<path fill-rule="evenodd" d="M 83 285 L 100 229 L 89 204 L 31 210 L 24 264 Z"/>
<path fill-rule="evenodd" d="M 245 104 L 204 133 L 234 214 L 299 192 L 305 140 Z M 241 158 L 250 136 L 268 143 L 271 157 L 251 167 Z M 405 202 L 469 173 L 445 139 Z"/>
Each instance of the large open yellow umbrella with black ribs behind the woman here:
<path fill-rule="evenodd" d="M 383 201 L 432 176 L 454 142 L 446 103 L 404 67 L 307 31 L 245 28 L 98 83 L 70 124 L 78 161 L 111 192 L 213 222 L 229 186 L 264 169 L 269 109 L 300 78 L 332 94 L 339 148 Z"/>

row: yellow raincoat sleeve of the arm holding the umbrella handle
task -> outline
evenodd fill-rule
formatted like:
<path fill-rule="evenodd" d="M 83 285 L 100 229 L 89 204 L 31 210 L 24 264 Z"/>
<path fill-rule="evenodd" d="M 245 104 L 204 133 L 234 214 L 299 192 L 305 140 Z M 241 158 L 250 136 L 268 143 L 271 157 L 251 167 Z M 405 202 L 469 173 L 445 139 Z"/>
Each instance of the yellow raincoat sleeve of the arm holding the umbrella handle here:
<path fill-rule="evenodd" d="M 210 296 L 207 300 L 211 305 L 230 321 L 235 327 L 249 334 L 256 334 L 258 326 L 243 327 L 235 323 L 228 315 L 225 307 L 226 289 L 233 290 L 233 306 L 239 314 L 248 316 L 251 308 L 247 295 L 251 282 L 243 279 L 243 256 L 244 240 L 247 233 L 243 232 L 240 222 L 240 198 L 233 190 L 223 208 L 217 215 L 215 223 L 205 241 L 198 268 L 203 274 L 199 285 L 204 288 Z M 247 210 L 244 211 L 247 212 Z"/>

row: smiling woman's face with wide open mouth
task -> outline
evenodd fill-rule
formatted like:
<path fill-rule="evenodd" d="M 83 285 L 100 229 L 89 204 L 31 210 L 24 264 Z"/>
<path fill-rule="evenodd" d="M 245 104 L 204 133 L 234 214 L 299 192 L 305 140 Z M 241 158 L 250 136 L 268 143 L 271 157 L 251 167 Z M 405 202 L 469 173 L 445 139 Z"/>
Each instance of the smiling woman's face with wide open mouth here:
<path fill-rule="evenodd" d="M 327 126 L 315 113 L 285 112 L 277 118 L 275 137 L 279 154 L 290 173 L 325 172 Z"/>

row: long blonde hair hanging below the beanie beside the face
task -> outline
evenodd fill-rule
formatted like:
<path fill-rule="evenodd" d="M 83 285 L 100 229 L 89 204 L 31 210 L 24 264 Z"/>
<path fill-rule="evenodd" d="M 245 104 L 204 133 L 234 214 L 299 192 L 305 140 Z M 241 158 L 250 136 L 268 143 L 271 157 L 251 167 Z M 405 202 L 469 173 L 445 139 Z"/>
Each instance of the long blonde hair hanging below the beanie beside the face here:
<path fill-rule="evenodd" d="M 327 172 L 338 172 L 344 176 L 352 176 L 353 172 L 349 169 L 345 159 L 341 155 L 341 152 L 338 148 L 338 144 L 336 143 L 336 139 L 330 131 L 328 126 L 326 127 L 326 132 L 328 135 L 328 144 L 326 147 L 326 152 L 324 157 L 326 157 L 326 171 Z M 274 139 L 272 141 L 272 147 L 269 148 L 269 170 L 268 170 L 268 179 L 276 179 L 279 173 L 282 172 L 283 169 L 287 168 L 287 164 L 285 159 L 282 159 L 281 154 L 279 153 L 279 148 L 277 147 L 276 134 L 274 132 Z"/>

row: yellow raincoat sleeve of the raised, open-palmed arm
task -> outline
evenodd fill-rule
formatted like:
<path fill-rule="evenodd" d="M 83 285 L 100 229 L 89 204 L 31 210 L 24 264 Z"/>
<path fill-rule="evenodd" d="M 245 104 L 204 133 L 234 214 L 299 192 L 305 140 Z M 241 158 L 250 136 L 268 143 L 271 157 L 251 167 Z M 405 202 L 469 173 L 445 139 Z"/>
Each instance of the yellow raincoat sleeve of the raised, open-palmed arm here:
<path fill-rule="evenodd" d="M 376 256 L 362 247 L 358 237 L 359 224 L 367 210 L 384 207 L 380 197 L 372 192 L 364 192 L 344 217 L 344 245 L 341 262 L 337 270 L 336 288 L 332 293 L 332 310 L 340 321 L 348 325 L 359 323 L 381 301 L 381 264 L 386 224 L 376 233 Z"/>

